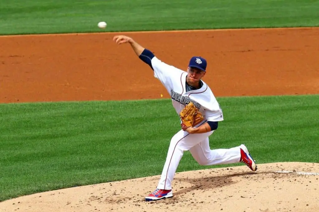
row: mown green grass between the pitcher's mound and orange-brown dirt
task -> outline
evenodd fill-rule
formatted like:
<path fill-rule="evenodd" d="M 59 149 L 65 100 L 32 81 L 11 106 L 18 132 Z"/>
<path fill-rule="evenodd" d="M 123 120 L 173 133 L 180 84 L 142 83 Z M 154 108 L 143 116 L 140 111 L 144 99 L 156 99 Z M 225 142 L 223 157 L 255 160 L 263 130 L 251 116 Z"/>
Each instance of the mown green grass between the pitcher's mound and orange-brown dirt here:
<path fill-rule="evenodd" d="M 218 100 L 225 121 L 211 148 L 244 143 L 257 163 L 319 162 L 319 95 Z M 0 117 L 0 201 L 160 174 L 180 129 L 167 99 L 0 104 Z M 177 171 L 214 167 L 185 152 Z"/>

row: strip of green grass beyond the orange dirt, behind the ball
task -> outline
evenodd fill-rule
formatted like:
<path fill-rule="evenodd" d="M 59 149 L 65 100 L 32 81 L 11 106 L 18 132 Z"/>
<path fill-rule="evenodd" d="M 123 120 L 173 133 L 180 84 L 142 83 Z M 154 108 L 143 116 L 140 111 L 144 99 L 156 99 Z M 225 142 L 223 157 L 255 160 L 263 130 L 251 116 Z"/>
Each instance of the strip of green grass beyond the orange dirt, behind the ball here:
<path fill-rule="evenodd" d="M 318 0 L 1 0 L 0 34 L 319 26 L 318 11 Z"/>

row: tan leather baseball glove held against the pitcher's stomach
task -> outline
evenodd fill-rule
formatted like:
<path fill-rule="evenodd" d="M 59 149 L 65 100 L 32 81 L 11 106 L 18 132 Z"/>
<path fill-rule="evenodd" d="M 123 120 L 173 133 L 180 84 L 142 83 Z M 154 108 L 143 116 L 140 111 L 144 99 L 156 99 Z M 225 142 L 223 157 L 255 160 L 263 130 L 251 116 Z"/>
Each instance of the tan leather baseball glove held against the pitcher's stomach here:
<path fill-rule="evenodd" d="M 193 102 L 189 102 L 189 104 L 183 108 L 183 110 L 180 112 L 180 118 L 182 120 L 181 126 L 183 131 L 185 131 L 186 128 L 199 124 L 204 119 L 203 115 L 195 107 Z"/>

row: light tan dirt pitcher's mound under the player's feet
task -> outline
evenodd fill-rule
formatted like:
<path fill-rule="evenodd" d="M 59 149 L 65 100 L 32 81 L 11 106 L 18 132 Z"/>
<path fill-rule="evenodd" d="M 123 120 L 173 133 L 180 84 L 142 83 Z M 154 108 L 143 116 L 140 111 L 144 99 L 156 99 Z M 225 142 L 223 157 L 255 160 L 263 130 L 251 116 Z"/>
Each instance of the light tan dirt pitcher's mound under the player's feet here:
<path fill-rule="evenodd" d="M 319 211 L 318 163 L 259 164 L 176 173 L 174 196 L 144 201 L 159 176 L 73 187 L 0 203 L 2 211 Z"/>

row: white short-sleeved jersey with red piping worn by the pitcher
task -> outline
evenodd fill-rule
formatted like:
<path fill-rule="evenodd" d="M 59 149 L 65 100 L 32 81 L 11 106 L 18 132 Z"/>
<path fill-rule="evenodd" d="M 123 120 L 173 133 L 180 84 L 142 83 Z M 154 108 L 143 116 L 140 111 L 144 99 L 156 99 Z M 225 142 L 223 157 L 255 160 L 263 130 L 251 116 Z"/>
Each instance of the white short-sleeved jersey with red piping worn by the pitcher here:
<path fill-rule="evenodd" d="M 193 102 L 203 114 L 205 120 L 214 122 L 224 120 L 219 103 L 204 81 L 202 81 L 203 86 L 201 88 L 186 92 L 186 71 L 168 65 L 157 57 L 153 57 L 151 62 L 154 76 L 171 95 L 172 104 L 177 114 L 180 114 L 186 104 Z"/>

